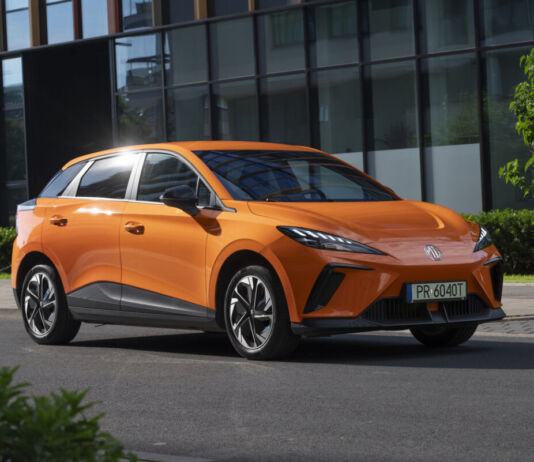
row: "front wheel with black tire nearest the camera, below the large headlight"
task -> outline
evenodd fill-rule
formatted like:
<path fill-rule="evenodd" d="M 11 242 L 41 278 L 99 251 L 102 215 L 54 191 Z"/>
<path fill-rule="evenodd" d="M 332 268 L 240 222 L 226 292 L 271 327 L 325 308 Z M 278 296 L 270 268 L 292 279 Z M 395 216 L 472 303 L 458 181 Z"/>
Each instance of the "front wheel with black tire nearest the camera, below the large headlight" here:
<path fill-rule="evenodd" d="M 224 298 L 224 322 L 234 349 L 247 359 L 281 358 L 299 343 L 291 331 L 282 286 L 263 266 L 247 266 L 232 277 Z"/>

